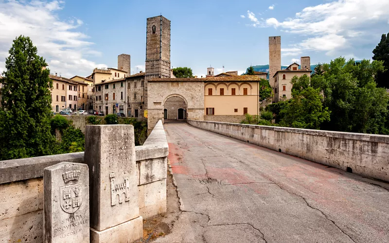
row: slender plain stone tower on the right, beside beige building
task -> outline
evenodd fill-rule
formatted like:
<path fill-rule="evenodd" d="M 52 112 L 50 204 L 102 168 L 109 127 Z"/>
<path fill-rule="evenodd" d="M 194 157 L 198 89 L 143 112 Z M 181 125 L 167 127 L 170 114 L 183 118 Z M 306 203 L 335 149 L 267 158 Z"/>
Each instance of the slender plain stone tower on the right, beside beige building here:
<path fill-rule="evenodd" d="M 275 93 L 273 75 L 279 70 L 281 70 L 281 36 L 269 36 L 269 82 L 273 93 Z"/>

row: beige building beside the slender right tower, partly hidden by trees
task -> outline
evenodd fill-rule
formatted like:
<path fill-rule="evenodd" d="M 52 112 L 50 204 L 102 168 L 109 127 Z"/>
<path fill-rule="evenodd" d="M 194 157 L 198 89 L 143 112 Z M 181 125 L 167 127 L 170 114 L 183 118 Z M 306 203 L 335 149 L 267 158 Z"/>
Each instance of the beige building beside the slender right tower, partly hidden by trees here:
<path fill-rule="evenodd" d="M 301 57 L 301 63 L 304 63 L 307 67 L 310 67 L 309 63 L 306 63 L 305 60 L 307 57 Z M 289 65 L 286 69 L 278 70 L 273 78 L 275 80 L 275 89 L 274 89 L 274 98 L 275 102 L 285 101 L 292 98 L 292 84 L 290 83 L 291 79 L 294 76 L 301 77 L 306 74 L 308 77 L 311 76 L 311 70 L 308 69 L 299 69 L 299 64 L 293 63 Z"/>

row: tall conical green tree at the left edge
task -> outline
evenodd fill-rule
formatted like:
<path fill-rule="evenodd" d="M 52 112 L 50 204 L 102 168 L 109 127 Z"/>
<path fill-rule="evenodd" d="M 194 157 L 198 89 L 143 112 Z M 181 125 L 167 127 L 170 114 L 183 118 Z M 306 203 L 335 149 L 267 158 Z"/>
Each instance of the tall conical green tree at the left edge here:
<path fill-rule="evenodd" d="M 3 72 L 0 109 L 1 159 L 52 154 L 50 71 L 29 37 L 19 36 Z"/>

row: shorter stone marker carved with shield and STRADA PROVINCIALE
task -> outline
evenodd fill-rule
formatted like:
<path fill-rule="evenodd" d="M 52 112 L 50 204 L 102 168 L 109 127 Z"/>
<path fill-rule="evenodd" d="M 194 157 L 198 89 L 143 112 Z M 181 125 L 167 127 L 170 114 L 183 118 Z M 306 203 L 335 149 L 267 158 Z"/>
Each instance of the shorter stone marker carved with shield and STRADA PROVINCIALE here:
<path fill-rule="evenodd" d="M 44 169 L 44 243 L 89 243 L 88 166 L 62 162 Z"/>

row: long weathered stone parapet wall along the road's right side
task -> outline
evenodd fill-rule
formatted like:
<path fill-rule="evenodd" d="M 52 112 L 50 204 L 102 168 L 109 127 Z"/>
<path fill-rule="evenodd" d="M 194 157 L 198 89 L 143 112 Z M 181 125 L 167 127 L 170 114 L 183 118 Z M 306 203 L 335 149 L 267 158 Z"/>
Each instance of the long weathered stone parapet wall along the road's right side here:
<path fill-rule="evenodd" d="M 212 121 L 188 123 L 285 154 L 389 181 L 389 136 Z"/>

